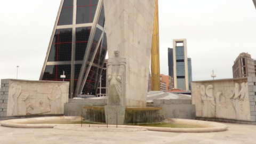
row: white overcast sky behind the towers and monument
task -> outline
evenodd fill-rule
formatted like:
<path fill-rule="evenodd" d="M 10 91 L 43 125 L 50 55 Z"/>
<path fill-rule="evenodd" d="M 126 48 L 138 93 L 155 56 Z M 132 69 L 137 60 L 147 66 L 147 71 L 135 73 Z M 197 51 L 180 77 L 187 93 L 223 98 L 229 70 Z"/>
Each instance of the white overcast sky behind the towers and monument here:
<path fill-rule="evenodd" d="M 232 78 L 239 53 L 256 59 L 256 10 L 252 0 L 158 0 L 161 74 L 167 48 L 186 38 L 193 81 Z M 0 0 L 0 79 L 38 80 L 60 0 Z"/>

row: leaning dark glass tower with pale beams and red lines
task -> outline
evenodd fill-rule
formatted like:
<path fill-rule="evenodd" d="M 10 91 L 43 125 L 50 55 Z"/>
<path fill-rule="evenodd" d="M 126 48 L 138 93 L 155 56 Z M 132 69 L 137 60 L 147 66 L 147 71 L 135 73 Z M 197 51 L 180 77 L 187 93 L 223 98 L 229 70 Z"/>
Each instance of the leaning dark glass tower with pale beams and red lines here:
<path fill-rule="evenodd" d="M 62 0 L 40 80 L 70 82 L 70 98 L 95 94 L 107 53 L 103 0 Z"/>

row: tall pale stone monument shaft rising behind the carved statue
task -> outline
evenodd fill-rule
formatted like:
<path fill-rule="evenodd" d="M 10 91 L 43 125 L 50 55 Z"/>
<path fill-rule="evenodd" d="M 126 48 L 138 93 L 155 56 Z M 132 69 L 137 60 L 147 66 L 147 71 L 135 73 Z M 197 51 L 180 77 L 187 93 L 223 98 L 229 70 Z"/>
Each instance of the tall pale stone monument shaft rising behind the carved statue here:
<path fill-rule="evenodd" d="M 126 58 L 126 106 L 145 106 L 155 0 L 104 1 L 108 57 Z"/>

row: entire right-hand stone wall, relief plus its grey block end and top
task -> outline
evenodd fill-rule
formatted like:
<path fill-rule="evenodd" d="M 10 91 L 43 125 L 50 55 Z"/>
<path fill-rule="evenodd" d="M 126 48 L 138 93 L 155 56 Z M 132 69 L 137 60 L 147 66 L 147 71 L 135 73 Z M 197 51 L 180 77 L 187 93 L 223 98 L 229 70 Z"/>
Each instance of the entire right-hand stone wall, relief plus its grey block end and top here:
<path fill-rule="evenodd" d="M 198 81 L 191 87 L 198 119 L 255 122 L 256 77 Z"/>

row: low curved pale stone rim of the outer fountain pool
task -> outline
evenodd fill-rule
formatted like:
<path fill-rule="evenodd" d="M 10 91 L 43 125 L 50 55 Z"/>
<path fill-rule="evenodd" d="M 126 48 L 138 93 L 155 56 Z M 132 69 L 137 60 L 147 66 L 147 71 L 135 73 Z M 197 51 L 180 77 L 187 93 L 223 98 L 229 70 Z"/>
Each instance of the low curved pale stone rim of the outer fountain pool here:
<path fill-rule="evenodd" d="M 61 130 L 77 130 L 77 131 L 163 131 L 163 132 L 218 132 L 226 131 L 227 125 L 198 121 L 191 119 L 167 118 L 166 123 L 184 123 L 192 125 L 204 125 L 203 128 L 170 128 L 170 127 L 152 127 L 152 126 L 135 126 L 135 125 L 99 125 L 99 124 L 33 124 L 35 122 L 59 122 L 59 121 L 81 121 L 79 116 L 61 116 L 61 117 L 38 117 L 38 118 L 23 118 L 23 119 L 9 119 L 1 121 L 2 126 L 17 127 L 17 128 L 54 128 Z"/>

